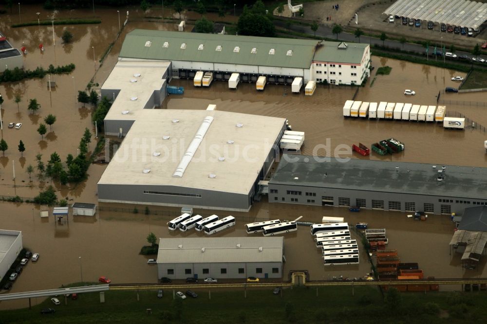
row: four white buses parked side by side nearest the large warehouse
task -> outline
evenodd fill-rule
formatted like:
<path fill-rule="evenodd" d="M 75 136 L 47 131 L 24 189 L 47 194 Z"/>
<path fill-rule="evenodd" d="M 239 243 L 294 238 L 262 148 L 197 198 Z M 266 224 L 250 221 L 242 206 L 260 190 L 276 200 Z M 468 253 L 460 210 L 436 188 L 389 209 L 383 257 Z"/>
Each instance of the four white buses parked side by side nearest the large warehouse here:
<path fill-rule="evenodd" d="M 191 216 L 187 213 L 174 218 L 168 223 L 168 228 L 171 231 L 179 229 L 181 232 L 186 232 L 194 228 L 196 231 L 203 231 L 207 235 L 215 234 L 222 230 L 235 225 L 235 217 L 227 216 L 219 219 L 216 215 L 211 215 L 203 218 L 200 215 Z"/>

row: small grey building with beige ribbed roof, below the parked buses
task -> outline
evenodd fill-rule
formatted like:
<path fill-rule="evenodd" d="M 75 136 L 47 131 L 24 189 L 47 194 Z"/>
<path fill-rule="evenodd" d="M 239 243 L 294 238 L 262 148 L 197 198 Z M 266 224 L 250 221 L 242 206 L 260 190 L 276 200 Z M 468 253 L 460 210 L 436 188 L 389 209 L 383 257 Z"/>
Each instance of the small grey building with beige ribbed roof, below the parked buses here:
<path fill-rule="evenodd" d="M 161 238 L 159 278 L 281 278 L 283 237 Z"/>

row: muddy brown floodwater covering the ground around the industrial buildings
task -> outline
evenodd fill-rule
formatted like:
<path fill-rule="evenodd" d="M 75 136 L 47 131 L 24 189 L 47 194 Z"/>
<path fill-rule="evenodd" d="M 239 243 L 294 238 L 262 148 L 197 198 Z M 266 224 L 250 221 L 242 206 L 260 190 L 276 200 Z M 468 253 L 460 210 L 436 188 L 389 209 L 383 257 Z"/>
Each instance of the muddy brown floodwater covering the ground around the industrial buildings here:
<path fill-rule="evenodd" d="M 35 10 L 40 10 L 46 17 L 48 15 L 40 7 L 33 6 L 32 10 L 31 16 L 34 17 L 26 20 L 37 18 L 33 14 Z M 62 15 L 66 17 L 68 13 L 63 12 Z M 80 17 L 83 11 L 75 11 L 71 15 Z M 56 82 L 56 88 L 52 91 L 47 87 L 47 76 L 44 79 L 0 84 L 0 93 L 5 99 L 1 106 L 4 124 L 23 124 L 20 129 L 4 127 L 1 133 L 9 148 L 5 156 L 0 157 L 0 196 L 33 198 L 38 194 L 39 188 L 53 184 L 58 198 L 67 198 L 69 203 L 77 201 L 98 204 L 96 183 L 105 170 L 105 165 L 92 164 L 88 170 L 88 179 L 76 186 L 61 185 L 56 181 L 50 183 L 49 179 L 39 181 L 37 172 L 32 174 L 33 181 L 30 182 L 26 168 L 29 164 L 36 165 L 35 157 L 39 153 L 42 154 L 43 161 L 47 161 L 56 151 L 64 161 L 67 154 L 76 154 L 85 128 L 88 127 L 94 133 L 91 122 L 93 108 L 88 104 L 83 107 L 77 103 L 77 91 L 84 90 L 92 78 L 94 83 L 101 86 L 117 62 L 117 54 L 128 32 L 136 28 L 174 30 L 175 24 L 131 21 L 129 18 L 129 23 L 115 41 L 118 33 L 116 10 L 97 9 L 97 15 L 103 17 L 103 22 L 98 25 L 55 26 L 56 46 L 53 46 L 51 27 L 10 28 L 10 18 L 14 19 L 16 16 L 2 16 L 2 33 L 8 36 L 14 47 L 27 47 L 28 54 L 24 56 L 26 69 L 70 63 L 75 63 L 76 69 L 69 75 L 52 76 L 52 80 Z M 140 13 L 134 15 L 140 17 Z M 59 35 L 63 28 L 69 28 L 75 35 L 72 44 L 61 44 Z M 100 66 L 101 56 L 113 41 L 110 53 Z M 44 45 L 43 52 L 38 48 L 40 42 Z M 289 120 L 293 130 L 306 133 L 301 153 L 304 155 L 334 156 L 335 149 L 340 144 L 352 146 L 360 142 L 370 146 L 385 138 L 395 138 L 405 144 L 406 149 L 403 152 L 389 156 L 371 154 L 363 157 L 352 154 L 350 150 L 340 151 L 340 156 L 439 165 L 485 166 L 487 154 L 483 142 L 487 134 L 478 128 L 448 130 L 433 123 L 344 118 L 343 104 L 353 98 L 357 89 L 355 100 L 421 105 L 437 105 L 437 96 L 440 93 L 440 100 L 455 102 L 451 106 L 445 104 L 447 111 L 462 113 L 487 126 L 487 106 L 471 103 L 485 101 L 484 92 L 451 94 L 442 91 L 445 87 L 458 86 L 458 83 L 450 80 L 451 77 L 465 76 L 465 73 L 376 56 L 373 56 L 372 61 L 375 70 L 365 87 L 319 85 L 313 96 L 305 96 L 302 92 L 292 93 L 290 86 L 282 85 L 268 84 L 264 91 L 257 92 L 255 84 L 241 83 L 237 90 L 229 90 L 226 82 L 215 81 L 211 87 L 202 89 L 194 88 L 192 80 L 173 79 L 170 84 L 184 87 L 185 92 L 183 95 L 170 95 L 161 108 L 206 109 L 208 104 L 215 104 L 217 110 L 283 117 Z M 375 75 L 375 71 L 381 66 L 390 66 L 390 75 Z M 374 83 L 371 85 L 372 81 Z M 405 96 L 405 89 L 415 90 L 416 95 Z M 19 111 L 14 102 L 16 94 L 22 96 Z M 27 111 L 28 100 L 32 98 L 37 98 L 41 105 L 36 114 Z M 37 127 L 50 113 L 57 117 L 53 131 L 49 130 L 39 139 L 41 136 L 37 133 Z M 20 157 L 17 150 L 19 140 L 26 147 L 23 157 Z M 94 144 L 93 138 L 90 149 L 93 149 Z M 0 202 L 0 228 L 22 231 L 24 247 L 41 255 L 37 263 L 30 263 L 25 267 L 10 292 L 56 288 L 81 281 L 95 282 L 102 275 L 110 277 L 113 283 L 154 283 L 157 282 L 157 266 L 148 265 L 147 257 L 139 255 L 141 247 L 147 244 L 146 237 L 150 232 L 157 237 L 205 236 L 194 231 L 182 233 L 168 230 L 166 223 L 179 213 L 178 208 L 150 206 L 151 214 L 144 215 L 144 206 L 137 206 L 137 214 L 131 212 L 134 205 L 129 204 L 100 203 L 99 207 L 96 216 L 70 215 L 67 222 L 57 223 L 54 218 L 40 218 L 39 207 L 34 204 Z M 345 221 L 351 225 L 367 222 L 369 228 L 385 228 L 389 238 L 387 248 L 397 249 L 401 262 L 417 262 L 425 277 L 470 278 L 485 277 L 487 274 L 486 258 L 481 260 L 477 269 L 466 270 L 462 267 L 460 254 L 451 252 L 450 255 L 449 243 L 455 229 L 450 216 L 431 215 L 426 221 L 413 221 L 407 217 L 407 213 L 401 212 L 361 210 L 359 213 L 352 213 L 347 208 L 269 203 L 266 197 L 261 202 L 256 202 L 248 213 L 210 210 L 195 210 L 194 213 L 202 216 L 217 214 L 236 217 L 235 227 L 216 234 L 217 237 L 247 236 L 244 224 L 254 221 L 276 218 L 293 220 L 303 216 L 302 221 L 320 222 L 322 216 L 345 217 Z M 361 240 L 358 232 L 354 231 L 352 234 L 357 242 Z M 321 251 L 316 248 L 307 226 L 300 226 L 297 232 L 284 235 L 284 254 L 284 279 L 287 279 L 290 270 L 308 270 L 312 280 L 330 280 L 338 276 L 358 278 L 371 272 L 368 256 L 363 248 L 360 248 L 359 265 L 324 267 Z M 442 286 L 441 289 L 443 288 L 451 287 Z M 33 300 L 33 303 L 41 301 Z M 0 303 L 0 309 L 25 306 L 28 306 L 26 301 Z"/>

